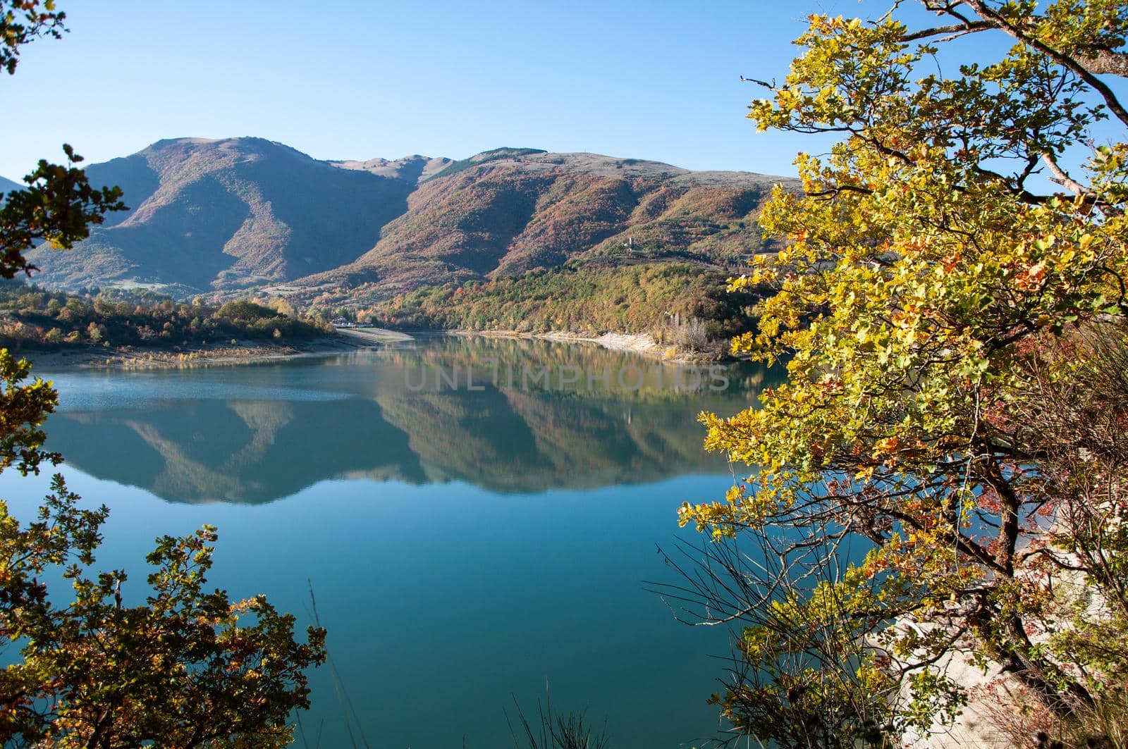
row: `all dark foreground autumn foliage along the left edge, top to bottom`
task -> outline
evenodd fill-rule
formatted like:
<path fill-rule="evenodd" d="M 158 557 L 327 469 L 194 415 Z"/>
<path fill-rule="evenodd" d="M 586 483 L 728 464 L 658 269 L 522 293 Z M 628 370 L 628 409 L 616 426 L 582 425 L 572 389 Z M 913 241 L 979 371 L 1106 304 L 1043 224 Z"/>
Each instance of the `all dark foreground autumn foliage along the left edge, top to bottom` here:
<path fill-rule="evenodd" d="M 50 0 L 0 0 L 0 67 L 14 72 L 19 46 L 58 37 L 63 19 Z M 0 276 L 30 274 L 33 246 L 68 248 L 124 208 L 121 191 L 91 187 L 64 151 L 67 166 L 41 161 L 24 190 L 0 195 Z M 43 449 L 42 429 L 58 394 L 29 378 L 27 361 L 0 350 L 0 470 L 25 475 L 61 460 Z M 265 598 L 209 590 L 211 527 L 158 539 L 143 588 L 98 570 L 107 514 L 81 509 L 60 475 L 29 522 L 0 501 L 0 743 L 288 746 L 292 711 L 309 706 L 305 671 L 325 659 L 324 631 L 299 643 L 294 618 Z M 49 593 L 49 580 L 69 596 Z"/>

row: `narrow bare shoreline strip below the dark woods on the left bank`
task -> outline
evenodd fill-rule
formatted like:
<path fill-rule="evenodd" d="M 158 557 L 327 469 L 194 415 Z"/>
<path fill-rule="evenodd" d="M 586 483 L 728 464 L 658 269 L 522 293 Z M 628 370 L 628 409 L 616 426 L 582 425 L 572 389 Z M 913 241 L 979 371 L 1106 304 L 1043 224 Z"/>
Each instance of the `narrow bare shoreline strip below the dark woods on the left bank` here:
<path fill-rule="evenodd" d="M 12 355 L 32 362 L 33 371 L 68 371 L 79 369 L 178 369 L 195 367 L 230 367 L 263 362 L 289 361 L 307 356 L 328 356 L 350 351 L 373 349 L 380 344 L 413 340 L 406 333 L 382 328 L 350 328 L 334 335 L 298 343 L 258 343 L 239 341 L 235 344 L 169 349 L 94 349 L 74 351 L 12 351 Z"/>

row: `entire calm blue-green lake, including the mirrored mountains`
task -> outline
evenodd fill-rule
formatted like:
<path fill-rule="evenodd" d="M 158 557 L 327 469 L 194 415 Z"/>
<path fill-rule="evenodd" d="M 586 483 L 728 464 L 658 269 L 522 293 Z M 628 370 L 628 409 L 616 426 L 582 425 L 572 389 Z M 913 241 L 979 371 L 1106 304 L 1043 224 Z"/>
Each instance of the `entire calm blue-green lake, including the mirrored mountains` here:
<path fill-rule="evenodd" d="M 46 372 L 38 372 L 47 377 Z M 210 581 L 309 623 L 336 672 L 312 673 L 305 743 L 512 746 L 504 711 L 545 698 L 615 749 L 715 735 L 729 653 L 644 581 L 685 501 L 732 476 L 700 411 L 735 413 L 759 368 L 661 364 L 596 346 L 437 336 L 239 367 L 50 373 L 47 447 L 105 503 L 99 565 L 133 571 L 161 534 L 219 527 Z M 46 477 L 0 476 L 28 518 Z"/>

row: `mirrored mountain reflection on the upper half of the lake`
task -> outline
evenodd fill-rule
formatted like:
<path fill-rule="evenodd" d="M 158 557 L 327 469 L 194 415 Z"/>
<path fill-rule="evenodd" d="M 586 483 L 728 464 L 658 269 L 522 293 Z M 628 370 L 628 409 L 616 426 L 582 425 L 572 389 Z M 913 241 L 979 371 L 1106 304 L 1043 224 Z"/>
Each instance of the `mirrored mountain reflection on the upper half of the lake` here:
<path fill-rule="evenodd" d="M 59 373 L 46 431 L 68 464 L 174 502 L 262 503 L 356 477 L 528 493 L 724 473 L 696 415 L 734 413 L 774 378 L 435 336 L 298 362 Z"/>

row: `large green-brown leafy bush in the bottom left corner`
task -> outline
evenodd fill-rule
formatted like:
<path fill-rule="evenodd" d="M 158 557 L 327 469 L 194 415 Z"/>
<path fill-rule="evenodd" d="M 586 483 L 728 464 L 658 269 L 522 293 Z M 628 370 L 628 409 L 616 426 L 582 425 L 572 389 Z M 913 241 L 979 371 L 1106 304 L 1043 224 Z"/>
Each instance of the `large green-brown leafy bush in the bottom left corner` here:
<path fill-rule="evenodd" d="M 126 574 L 91 570 L 108 510 L 78 501 L 56 475 L 34 522 L 0 502 L 0 644 L 23 657 L 0 671 L 5 746 L 288 746 L 291 711 L 309 707 L 303 670 L 325 660 L 324 629 L 299 644 L 293 617 L 265 598 L 206 590 L 208 526 L 158 539 L 150 592 L 126 605 Z M 70 603 L 47 596 L 51 571 L 70 582 Z"/>

